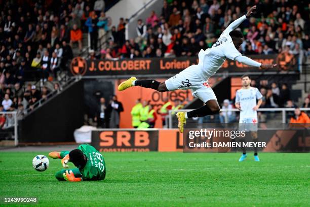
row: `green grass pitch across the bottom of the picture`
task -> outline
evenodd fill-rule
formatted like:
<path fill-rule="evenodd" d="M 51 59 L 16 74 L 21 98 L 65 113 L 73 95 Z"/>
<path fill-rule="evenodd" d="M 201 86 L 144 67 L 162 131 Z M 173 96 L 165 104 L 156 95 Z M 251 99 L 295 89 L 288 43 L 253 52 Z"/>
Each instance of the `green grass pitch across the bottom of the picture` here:
<path fill-rule="evenodd" d="M 55 179 L 60 160 L 35 171 L 37 154 L 48 152 L 0 152 L 0 204 L 37 197 L 45 206 L 310 205 L 310 154 L 261 153 L 255 162 L 249 153 L 240 163 L 239 153 L 105 153 L 105 180 L 81 183 Z"/>

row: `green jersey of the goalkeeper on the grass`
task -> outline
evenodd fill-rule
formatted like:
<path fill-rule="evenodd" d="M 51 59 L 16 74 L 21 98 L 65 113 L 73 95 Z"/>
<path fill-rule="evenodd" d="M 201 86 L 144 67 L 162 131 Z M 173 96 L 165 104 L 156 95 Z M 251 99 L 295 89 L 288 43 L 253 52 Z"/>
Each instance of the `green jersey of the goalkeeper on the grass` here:
<path fill-rule="evenodd" d="M 87 163 L 83 169 L 79 169 L 84 180 L 103 180 L 105 177 L 105 162 L 101 153 L 90 145 L 78 147 L 87 157 Z"/>

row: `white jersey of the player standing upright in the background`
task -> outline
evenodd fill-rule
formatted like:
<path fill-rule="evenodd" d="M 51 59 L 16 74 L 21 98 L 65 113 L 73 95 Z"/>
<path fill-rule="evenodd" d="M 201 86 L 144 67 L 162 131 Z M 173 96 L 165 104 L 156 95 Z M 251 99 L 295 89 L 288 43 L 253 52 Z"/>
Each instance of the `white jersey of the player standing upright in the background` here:
<path fill-rule="evenodd" d="M 257 88 L 250 87 L 248 89 L 239 89 L 236 92 L 236 103 L 239 103 L 240 112 L 240 123 L 244 123 L 244 120 L 255 120 L 257 122 L 257 112 L 253 110 L 256 106 L 256 99 L 261 99 L 262 94 Z M 248 123 L 248 121 L 246 122 Z"/>

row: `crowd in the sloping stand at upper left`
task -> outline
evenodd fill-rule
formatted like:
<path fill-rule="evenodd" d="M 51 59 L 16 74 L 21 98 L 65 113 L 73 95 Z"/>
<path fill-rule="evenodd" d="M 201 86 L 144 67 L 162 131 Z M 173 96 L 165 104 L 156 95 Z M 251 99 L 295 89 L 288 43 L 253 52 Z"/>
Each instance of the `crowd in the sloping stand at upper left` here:
<path fill-rule="evenodd" d="M 82 50 L 82 23 L 88 11 L 100 13 L 98 1 L 0 2 L 0 111 L 17 111 L 18 119 L 48 98 L 47 81 L 59 80 L 73 57 L 72 45 Z M 38 84 L 27 84 L 27 81 Z M 58 92 L 54 83 L 51 90 Z M 14 125 L 11 114 L 1 115 L 0 128 Z"/>

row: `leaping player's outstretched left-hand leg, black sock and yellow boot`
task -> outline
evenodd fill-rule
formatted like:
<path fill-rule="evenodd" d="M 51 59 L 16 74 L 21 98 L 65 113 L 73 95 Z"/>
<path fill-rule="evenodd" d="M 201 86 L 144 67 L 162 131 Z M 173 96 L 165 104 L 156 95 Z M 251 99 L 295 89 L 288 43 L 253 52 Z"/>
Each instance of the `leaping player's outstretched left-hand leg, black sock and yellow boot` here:
<path fill-rule="evenodd" d="M 160 83 L 153 79 L 152 80 L 137 80 L 136 77 L 131 77 L 130 79 L 123 81 L 119 85 L 118 90 L 123 91 L 132 86 L 141 86 L 144 88 L 151 88 L 159 92 L 168 91 L 165 82 Z"/>

